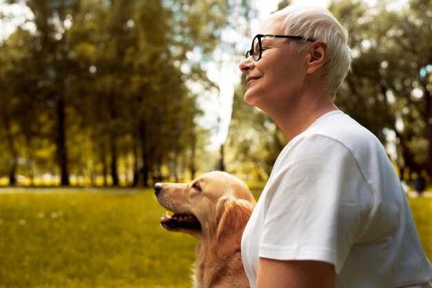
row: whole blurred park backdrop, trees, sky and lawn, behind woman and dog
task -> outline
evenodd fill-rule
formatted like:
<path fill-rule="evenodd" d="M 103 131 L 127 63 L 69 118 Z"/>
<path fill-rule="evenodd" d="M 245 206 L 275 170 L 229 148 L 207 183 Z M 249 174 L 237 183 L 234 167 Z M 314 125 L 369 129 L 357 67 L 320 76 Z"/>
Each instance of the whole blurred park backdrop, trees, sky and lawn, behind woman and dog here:
<path fill-rule="evenodd" d="M 298 0 L 300 1 L 300 0 Z M 282 133 L 238 69 L 279 0 L 0 0 L 0 288 L 190 287 L 151 187 L 259 198 Z M 432 258 L 432 1 L 302 1 L 350 29 L 342 111 L 382 142 Z"/>

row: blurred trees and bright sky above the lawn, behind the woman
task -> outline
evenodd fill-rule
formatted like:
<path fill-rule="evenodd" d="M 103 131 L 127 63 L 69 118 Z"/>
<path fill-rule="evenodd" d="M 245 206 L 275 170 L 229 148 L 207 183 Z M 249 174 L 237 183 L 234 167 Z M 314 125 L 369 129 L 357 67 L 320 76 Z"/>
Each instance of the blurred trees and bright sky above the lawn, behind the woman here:
<path fill-rule="evenodd" d="M 0 184 L 148 186 L 210 170 L 265 180 L 286 144 L 237 64 L 290 1 L 0 2 Z M 348 24 L 337 106 L 403 180 L 432 175 L 432 4 L 311 1 Z"/>

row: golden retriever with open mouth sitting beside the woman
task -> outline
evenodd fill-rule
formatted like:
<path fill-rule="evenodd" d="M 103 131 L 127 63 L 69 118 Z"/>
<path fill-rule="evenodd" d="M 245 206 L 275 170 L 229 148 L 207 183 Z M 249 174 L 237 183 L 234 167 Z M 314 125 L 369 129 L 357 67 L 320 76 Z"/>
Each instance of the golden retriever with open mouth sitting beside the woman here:
<path fill-rule="evenodd" d="M 213 171 L 185 184 L 157 183 L 155 194 L 161 206 L 174 212 L 161 218 L 162 227 L 199 239 L 195 287 L 250 287 L 240 242 L 256 202 L 242 180 Z"/>

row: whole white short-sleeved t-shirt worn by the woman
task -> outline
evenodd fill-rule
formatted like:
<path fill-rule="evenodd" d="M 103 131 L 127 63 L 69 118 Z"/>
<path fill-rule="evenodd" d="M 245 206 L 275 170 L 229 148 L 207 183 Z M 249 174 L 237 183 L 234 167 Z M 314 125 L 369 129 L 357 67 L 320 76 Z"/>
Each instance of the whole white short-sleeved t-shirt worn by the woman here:
<path fill-rule="evenodd" d="M 252 288 L 259 257 L 329 262 L 335 288 L 428 287 L 432 280 L 389 157 L 342 111 L 317 119 L 277 158 L 242 238 Z"/>

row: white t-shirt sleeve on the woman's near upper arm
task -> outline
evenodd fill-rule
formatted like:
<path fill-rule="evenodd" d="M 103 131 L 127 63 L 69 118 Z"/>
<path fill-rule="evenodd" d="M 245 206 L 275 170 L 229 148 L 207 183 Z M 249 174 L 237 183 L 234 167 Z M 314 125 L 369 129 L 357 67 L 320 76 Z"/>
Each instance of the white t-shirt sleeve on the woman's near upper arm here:
<path fill-rule="evenodd" d="M 371 197 L 355 157 L 340 142 L 308 135 L 275 164 L 268 184 L 259 257 L 320 260 L 339 273 Z"/>

